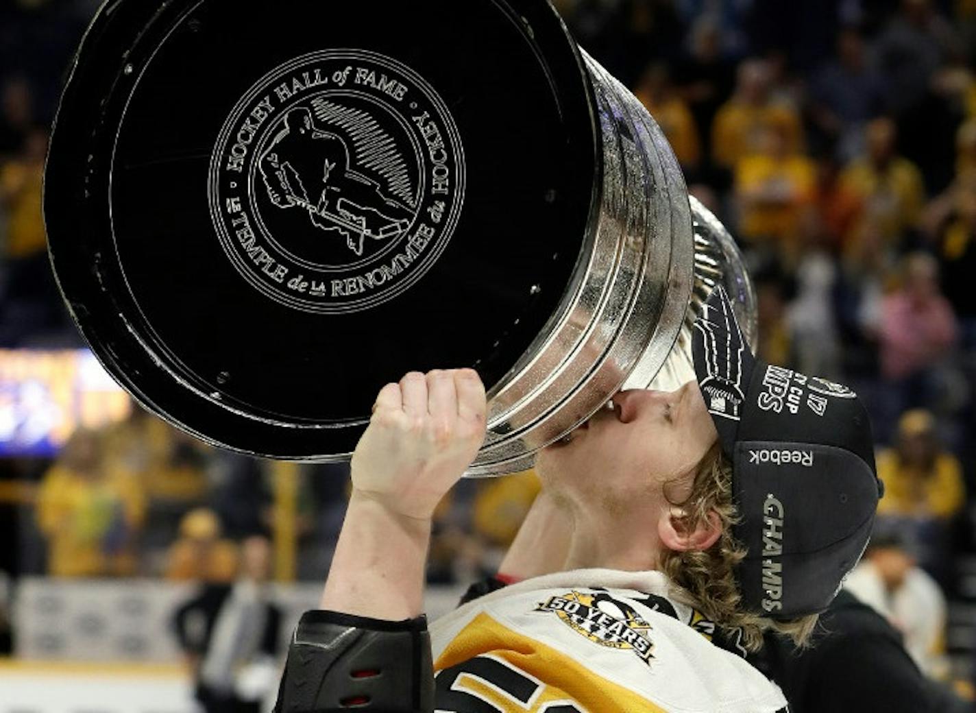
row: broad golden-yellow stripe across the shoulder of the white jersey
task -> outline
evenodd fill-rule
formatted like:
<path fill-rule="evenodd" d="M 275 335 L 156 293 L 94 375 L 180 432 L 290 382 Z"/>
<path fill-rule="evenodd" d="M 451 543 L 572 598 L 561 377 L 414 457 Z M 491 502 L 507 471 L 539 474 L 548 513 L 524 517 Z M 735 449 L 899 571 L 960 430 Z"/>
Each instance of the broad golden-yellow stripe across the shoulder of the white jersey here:
<path fill-rule="evenodd" d="M 547 703 L 555 701 L 575 703 L 589 713 L 668 713 L 644 697 L 598 676 L 572 657 L 512 631 L 485 613 L 471 620 L 438 656 L 433 668 L 440 672 L 476 656 L 505 661 L 544 686 L 544 691 L 533 698 L 531 708 L 526 708 L 490 682 L 464 673 L 458 677 L 455 689 L 463 687 L 505 713 L 538 713 Z"/>

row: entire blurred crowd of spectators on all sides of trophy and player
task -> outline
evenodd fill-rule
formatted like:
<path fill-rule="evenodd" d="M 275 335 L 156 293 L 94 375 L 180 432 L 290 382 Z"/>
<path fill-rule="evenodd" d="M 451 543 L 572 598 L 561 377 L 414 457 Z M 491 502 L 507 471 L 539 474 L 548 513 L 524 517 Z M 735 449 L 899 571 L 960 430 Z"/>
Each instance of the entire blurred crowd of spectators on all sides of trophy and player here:
<path fill-rule="evenodd" d="M 947 600 L 976 603 L 959 566 L 976 553 L 976 1 L 555 4 L 740 241 L 761 356 L 868 403 L 886 496 L 850 587 L 924 670 L 948 675 Z M 41 181 L 61 72 L 92 11 L 0 6 L 0 347 L 77 343 L 47 266 Z M 0 479 L 36 484 L 31 524 L 15 534 L 44 543 L 0 561 L 14 576 L 229 583 L 240 543 L 273 536 L 284 517 L 269 464 L 138 408 L 79 431 L 53 463 L 0 467 Z M 345 507 L 338 471 L 299 469 L 300 578 L 328 564 Z M 430 581 L 493 571 L 538 487 L 531 473 L 462 483 L 438 516 Z"/>

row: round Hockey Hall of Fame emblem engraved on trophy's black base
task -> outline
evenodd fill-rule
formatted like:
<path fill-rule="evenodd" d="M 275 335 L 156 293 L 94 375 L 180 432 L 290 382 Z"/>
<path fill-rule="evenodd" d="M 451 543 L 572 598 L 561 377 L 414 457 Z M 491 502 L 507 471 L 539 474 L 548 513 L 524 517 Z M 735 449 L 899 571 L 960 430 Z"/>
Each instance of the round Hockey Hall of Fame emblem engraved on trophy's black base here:
<path fill-rule="evenodd" d="M 266 74 L 230 112 L 210 166 L 211 216 L 231 264 L 310 313 L 402 293 L 447 246 L 464 198 L 447 106 L 409 67 L 362 50 Z"/>

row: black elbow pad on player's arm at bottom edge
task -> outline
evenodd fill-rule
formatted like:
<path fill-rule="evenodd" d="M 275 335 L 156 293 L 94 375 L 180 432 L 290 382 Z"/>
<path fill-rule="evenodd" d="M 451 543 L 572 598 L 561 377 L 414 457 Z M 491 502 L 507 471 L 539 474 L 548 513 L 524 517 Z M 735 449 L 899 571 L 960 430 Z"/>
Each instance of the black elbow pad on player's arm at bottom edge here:
<path fill-rule="evenodd" d="M 427 618 L 384 621 L 306 611 L 288 650 L 275 713 L 430 713 Z"/>

